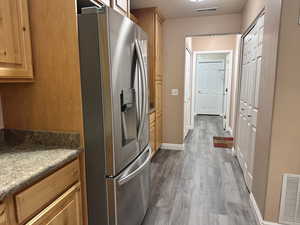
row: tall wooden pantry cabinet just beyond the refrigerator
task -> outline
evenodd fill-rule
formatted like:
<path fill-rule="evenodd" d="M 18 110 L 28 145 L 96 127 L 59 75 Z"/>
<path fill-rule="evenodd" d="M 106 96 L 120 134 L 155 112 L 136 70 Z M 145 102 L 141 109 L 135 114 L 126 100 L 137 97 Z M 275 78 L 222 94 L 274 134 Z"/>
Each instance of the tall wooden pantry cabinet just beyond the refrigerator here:
<path fill-rule="evenodd" d="M 157 8 L 135 9 L 132 14 L 148 34 L 150 105 L 155 113 L 155 140 L 150 142 L 155 154 L 162 144 L 163 18 Z"/>

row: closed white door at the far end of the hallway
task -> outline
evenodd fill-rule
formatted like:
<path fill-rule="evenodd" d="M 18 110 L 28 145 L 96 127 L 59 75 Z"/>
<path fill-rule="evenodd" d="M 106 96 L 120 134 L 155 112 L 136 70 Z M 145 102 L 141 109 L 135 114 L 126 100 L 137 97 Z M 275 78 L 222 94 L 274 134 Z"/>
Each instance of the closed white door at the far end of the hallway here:
<path fill-rule="evenodd" d="M 223 61 L 196 62 L 196 113 L 222 115 L 225 66 Z"/>

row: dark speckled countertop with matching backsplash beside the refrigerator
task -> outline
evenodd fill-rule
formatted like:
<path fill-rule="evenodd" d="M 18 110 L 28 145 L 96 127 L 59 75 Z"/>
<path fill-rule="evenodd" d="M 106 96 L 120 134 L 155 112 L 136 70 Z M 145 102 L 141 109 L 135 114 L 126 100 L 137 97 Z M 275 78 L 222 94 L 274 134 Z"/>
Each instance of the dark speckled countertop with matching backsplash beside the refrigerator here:
<path fill-rule="evenodd" d="M 1 130 L 0 141 L 0 202 L 80 153 L 80 137 L 75 133 Z"/>

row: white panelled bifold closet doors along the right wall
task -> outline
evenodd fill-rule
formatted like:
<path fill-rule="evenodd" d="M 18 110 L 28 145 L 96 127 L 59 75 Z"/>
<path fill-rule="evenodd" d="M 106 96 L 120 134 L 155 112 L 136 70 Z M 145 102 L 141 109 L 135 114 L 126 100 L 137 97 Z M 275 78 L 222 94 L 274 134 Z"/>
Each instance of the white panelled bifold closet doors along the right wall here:
<path fill-rule="evenodd" d="M 237 157 L 246 184 L 252 190 L 253 164 L 256 143 L 257 114 L 259 112 L 259 87 L 261 81 L 264 15 L 243 37 L 241 91 L 237 115 Z"/>

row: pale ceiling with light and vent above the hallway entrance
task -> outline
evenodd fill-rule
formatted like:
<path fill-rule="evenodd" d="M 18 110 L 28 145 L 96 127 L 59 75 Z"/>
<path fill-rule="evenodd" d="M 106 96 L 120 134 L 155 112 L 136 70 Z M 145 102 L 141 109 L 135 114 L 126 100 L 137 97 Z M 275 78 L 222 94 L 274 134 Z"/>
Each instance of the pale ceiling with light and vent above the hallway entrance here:
<path fill-rule="evenodd" d="M 251 1 L 251 0 L 249 0 Z M 131 0 L 131 8 L 158 7 L 165 18 L 239 13 L 247 0 Z M 215 12 L 196 12 L 199 8 L 218 7 Z"/>

